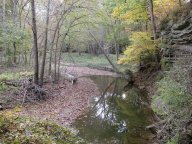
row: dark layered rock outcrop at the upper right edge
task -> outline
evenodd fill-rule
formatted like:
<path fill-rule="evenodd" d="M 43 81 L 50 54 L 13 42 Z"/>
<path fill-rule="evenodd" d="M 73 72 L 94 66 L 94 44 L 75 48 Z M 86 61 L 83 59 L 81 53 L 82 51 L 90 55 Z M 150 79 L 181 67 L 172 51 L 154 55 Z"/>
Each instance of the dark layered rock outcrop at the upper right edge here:
<path fill-rule="evenodd" d="M 174 18 L 176 20 L 174 20 Z M 192 49 L 192 4 L 175 12 L 174 17 L 162 23 L 162 38 L 168 45 L 188 45 Z"/>

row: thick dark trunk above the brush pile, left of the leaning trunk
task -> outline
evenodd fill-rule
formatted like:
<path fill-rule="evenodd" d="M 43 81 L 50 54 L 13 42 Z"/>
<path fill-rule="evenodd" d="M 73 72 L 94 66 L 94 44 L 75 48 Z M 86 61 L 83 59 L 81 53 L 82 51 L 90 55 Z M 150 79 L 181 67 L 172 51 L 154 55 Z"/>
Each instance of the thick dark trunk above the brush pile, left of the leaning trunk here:
<path fill-rule="evenodd" d="M 31 0 L 31 12 L 32 12 L 32 29 L 33 29 L 33 45 L 34 45 L 34 83 L 39 84 L 39 59 L 38 59 L 38 44 L 37 44 L 37 27 L 36 27 L 36 12 L 35 2 Z"/>

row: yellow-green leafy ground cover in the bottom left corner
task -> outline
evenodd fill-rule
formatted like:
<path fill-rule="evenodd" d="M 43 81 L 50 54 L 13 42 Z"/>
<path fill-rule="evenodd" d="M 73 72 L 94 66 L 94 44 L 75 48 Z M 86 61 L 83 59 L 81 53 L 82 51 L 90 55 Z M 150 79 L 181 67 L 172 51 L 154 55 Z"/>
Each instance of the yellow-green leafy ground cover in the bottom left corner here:
<path fill-rule="evenodd" d="M 85 143 L 62 126 L 20 117 L 8 111 L 0 117 L 2 144 L 80 144 Z"/>

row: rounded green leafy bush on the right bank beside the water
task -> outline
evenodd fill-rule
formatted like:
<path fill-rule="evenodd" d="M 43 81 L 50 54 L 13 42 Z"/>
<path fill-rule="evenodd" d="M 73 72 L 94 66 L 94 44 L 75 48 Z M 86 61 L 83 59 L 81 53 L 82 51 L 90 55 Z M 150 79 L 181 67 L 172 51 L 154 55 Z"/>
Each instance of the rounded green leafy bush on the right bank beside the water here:
<path fill-rule="evenodd" d="M 160 110 L 161 112 L 168 114 L 174 111 L 175 108 L 182 108 L 188 101 L 185 87 L 170 77 L 165 77 L 160 80 L 160 82 L 157 83 L 157 87 L 157 96 L 153 99 L 153 107 L 163 102 L 166 110 L 168 110 Z M 155 110 L 157 111 L 157 109 Z M 160 113 L 160 111 L 157 112 Z"/>

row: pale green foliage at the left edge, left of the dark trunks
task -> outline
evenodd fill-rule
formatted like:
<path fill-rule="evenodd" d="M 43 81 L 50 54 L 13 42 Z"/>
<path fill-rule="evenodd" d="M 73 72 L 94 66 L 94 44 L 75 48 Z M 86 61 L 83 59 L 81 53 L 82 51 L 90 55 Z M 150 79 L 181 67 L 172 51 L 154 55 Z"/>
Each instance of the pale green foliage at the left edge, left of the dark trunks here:
<path fill-rule="evenodd" d="M 16 48 L 14 48 L 13 44 Z M 4 54 L 4 63 L 13 64 L 18 54 L 29 52 L 31 48 L 31 35 L 27 30 L 16 27 L 12 23 L 0 25 L 0 47 Z M 14 58 L 13 58 L 14 57 Z"/>

